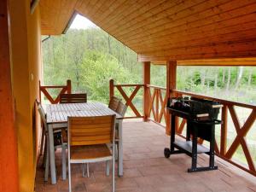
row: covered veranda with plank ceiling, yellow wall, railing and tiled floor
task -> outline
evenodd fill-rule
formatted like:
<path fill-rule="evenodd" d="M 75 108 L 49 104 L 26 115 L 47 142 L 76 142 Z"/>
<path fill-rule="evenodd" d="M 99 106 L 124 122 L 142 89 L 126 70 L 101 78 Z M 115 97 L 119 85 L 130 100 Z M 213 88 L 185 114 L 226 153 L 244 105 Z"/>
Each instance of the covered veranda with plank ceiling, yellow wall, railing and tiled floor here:
<path fill-rule="evenodd" d="M 256 107 L 176 90 L 178 65 L 256 65 L 255 8 L 255 1 L 249 0 L 1 1 L 1 189 L 13 192 L 67 190 L 67 183 L 59 181 L 56 185 L 50 185 L 44 183 L 43 178 L 40 180 L 42 171 L 36 168 L 40 120 L 35 113 L 34 102 L 39 99 L 39 80 L 42 80 L 41 35 L 60 35 L 66 32 L 74 15 L 79 13 L 137 52 L 138 61 L 143 62 L 143 84 L 114 84 L 110 81 L 110 96 L 114 95 L 116 89 L 119 90 L 135 116 L 146 121 L 124 122 L 125 173 L 124 177 L 117 178 L 117 190 L 256 190 L 252 183 L 256 175 L 255 159 L 245 139 L 255 123 Z M 166 87 L 150 84 L 151 62 L 166 65 Z M 124 86 L 135 87 L 135 92 L 131 96 L 122 94 Z M 132 98 L 139 89 L 143 89 L 142 113 L 137 112 L 132 104 Z M 163 157 L 163 148 L 168 144 L 167 135 L 170 134 L 166 100 L 183 95 L 210 98 L 224 105 L 221 113 L 224 124 L 221 126 L 220 141 L 215 146 L 215 152 L 220 157 L 216 160 L 218 171 L 187 173 L 185 170 L 190 162 L 188 157 L 183 154 L 171 159 Z M 243 125 L 239 122 L 236 106 L 251 110 Z M 237 133 L 230 146 L 227 145 L 228 112 Z M 153 114 L 154 122 L 160 123 L 165 119 L 166 131 L 153 122 L 147 122 L 150 114 Z M 176 127 L 178 134 L 182 134 L 185 123 L 180 120 Z M 140 143 L 142 148 L 134 149 L 135 143 Z M 247 160 L 246 165 L 232 159 L 239 146 Z M 204 164 L 205 156 L 199 161 Z M 142 164 L 142 167 L 138 166 Z M 87 179 L 88 183 L 79 172 L 74 173 L 74 177 L 78 178 L 77 191 L 94 191 L 94 187 L 101 186 L 104 179 L 108 181 L 103 171 L 94 168 L 93 177 Z M 247 174 L 251 174 L 252 179 Z"/>

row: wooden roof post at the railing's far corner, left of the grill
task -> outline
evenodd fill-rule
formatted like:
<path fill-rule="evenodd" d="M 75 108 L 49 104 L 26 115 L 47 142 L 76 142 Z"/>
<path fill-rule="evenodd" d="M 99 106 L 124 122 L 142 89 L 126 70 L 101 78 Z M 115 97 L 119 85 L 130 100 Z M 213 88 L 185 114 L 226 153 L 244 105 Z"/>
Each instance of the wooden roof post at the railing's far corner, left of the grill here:
<path fill-rule="evenodd" d="M 147 84 L 150 84 L 150 62 L 145 61 L 143 62 L 143 84 L 144 84 L 144 90 L 143 90 L 143 120 L 148 121 L 149 117 L 149 88 L 147 87 Z"/>

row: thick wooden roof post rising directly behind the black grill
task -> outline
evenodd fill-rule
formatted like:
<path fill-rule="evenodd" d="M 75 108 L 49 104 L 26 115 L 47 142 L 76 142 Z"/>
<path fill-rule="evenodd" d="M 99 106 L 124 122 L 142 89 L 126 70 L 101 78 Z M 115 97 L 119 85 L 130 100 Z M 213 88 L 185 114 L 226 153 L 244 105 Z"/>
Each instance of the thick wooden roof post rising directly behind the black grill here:
<path fill-rule="evenodd" d="M 166 62 L 166 96 L 173 96 L 172 90 L 176 89 L 177 61 Z M 177 124 L 176 124 L 177 125 Z M 166 117 L 166 134 L 171 135 L 171 116 Z"/>

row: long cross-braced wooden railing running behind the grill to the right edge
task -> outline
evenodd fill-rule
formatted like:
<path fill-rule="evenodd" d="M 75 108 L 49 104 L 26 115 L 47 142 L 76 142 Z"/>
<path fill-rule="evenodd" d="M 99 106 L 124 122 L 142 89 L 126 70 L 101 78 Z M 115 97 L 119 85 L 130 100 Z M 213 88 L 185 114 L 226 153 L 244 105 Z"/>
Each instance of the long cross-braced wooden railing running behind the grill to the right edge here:
<path fill-rule="evenodd" d="M 132 92 L 130 97 L 126 96 L 124 91 L 122 90 L 122 87 L 125 87 L 125 86 L 135 87 L 135 90 Z M 113 81 L 110 82 L 110 88 L 111 88 L 110 95 L 112 96 L 114 92 L 114 88 L 117 88 L 117 90 L 119 90 L 119 92 L 121 93 L 121 96 L 124 96 L 124 99 L 127 105 L 130 107 L 132 106 L 131 108 L 134 112 L 137 112 L 137 109 L 134 107 L 134 105 L 131 105 L 132 103 L 131 101 L 134 98 L 134 96 L 136 96 L 137 90 L 144 88 L 144 91 L 146 93 L 144 96 L 148 96 L 149 107 L 148 107 L 148 111 L 143 111 L 143 113 L 147 114 L 148 117 L 150 117 L 150 115 L 152 114 L 153 118 L 152 119 L 148 118 L 148 119 L 153 120 L 158 124 L 161 124 L 161 125 L 166 124 L 166 118 L 168 115 L 166 112 L 166 102 L 167 102 L 166 88 L 158 87 L 150 84 L 113 84 Z M 220 119 L 223 121 L 223 124 L 221 125 L 221 129 L 220 129 L 219 144 L 218 142 L 215 142 L 215 153 L 220 158 L 227 160 L 231 164 L 256 176 L 256 170 L 254 165 L 255 157 L 253 157 L 252 154 L 250 153 L 250 148 L 248 147 L 247 140 L 246 140 L 248 131 L 252 129 L 253 124 L 256 121 L 256 106 L 241 103 L 241 102 L 230 102 L 227 100 L 218 99 L 211 96 L 201 96 L 198 94 L 185 92 L 181 90 L 172 90 L 171 95 L 172 96 L 195 96 L 201 99 L 209 99 L 216 102 L 220 102 L 224 106 L 221 109 L 221 117 L 220 117 Z M 242 125 L 236 113 L 237 107 L 251 110 L 251 112 L 249 113 L 249 115 L 247 115 L 247 118 L 245 119 Z M 230 112 L 230 119 L 229 119 L 228 112 Z M 141 113 L 136 113 L 136 117 L 143 117 L 143 115 Z M 184 137 L 182 133 L 186 126 L 186 120 L 177 119 L 177 121 L 180 121 L 177 123 L 177 127 L 176 127 L 177 135 Z M 228 147 L 228 138 L 230 137 L 228 132 L 228 127 L 230 127 L 230 124 L 228 124 L 228 121 L 234 124 L 235 130 L 236 130 L 236 133 L 235 133 L 236 137 L 234 141 L 230 143 L 230 147 Z M 203 140 L 199 140 L 199 143 L 203 143 L 203 142 L 204 142 Z M 243 157 L 247 161 L 247 165 L 232 159 L 233 155 L 236 154 L 240 145 L 244 153 Z"/>

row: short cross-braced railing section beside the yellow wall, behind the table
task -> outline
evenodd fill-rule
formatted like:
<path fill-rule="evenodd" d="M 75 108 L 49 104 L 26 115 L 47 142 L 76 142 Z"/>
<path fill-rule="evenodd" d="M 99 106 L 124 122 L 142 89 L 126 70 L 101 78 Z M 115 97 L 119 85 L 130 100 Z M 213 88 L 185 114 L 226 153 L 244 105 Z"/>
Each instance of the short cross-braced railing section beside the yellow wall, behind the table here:
<path fill-rule="evenodd" d="M 59 90 L 59 93 L 55 98 L 50 95 L 49 90 Z M 56 104 L 60 102 L 60 95 L 64 93 L 71 93 L 71 80 L 67 80 L 66 85 L 60 85 L 60 86 L 52 86 L 52 85 L 41 85 L 41 82 L 39 81 L 39 96 L 40 96 L 40 102 L 41 102 L 41 94 L 49 100 L 51 104 Z"/>

